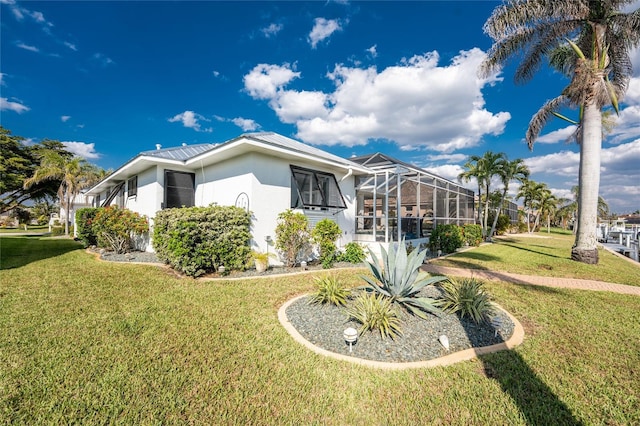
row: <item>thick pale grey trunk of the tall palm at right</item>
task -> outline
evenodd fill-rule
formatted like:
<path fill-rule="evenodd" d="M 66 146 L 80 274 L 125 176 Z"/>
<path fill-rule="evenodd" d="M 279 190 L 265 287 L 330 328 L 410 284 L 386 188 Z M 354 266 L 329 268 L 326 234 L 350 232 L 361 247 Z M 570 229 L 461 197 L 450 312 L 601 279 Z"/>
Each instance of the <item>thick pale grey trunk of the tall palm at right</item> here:
<path fill-rule="evenodd" d="M 580 144 L 578 230 L 571 250 L 571 259 L 588 264 L 598 263 L 596 228 L 601 145 L 602 111 L 594 102 L 589 102 L 584 109 L 583 137 Z"/>

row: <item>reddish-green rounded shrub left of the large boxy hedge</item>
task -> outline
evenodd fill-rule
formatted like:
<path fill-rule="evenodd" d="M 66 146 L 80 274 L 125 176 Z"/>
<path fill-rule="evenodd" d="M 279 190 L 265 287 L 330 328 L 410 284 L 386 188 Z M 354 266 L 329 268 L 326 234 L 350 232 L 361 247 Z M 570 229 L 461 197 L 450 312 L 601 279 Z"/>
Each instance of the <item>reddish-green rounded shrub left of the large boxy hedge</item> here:
<path fill-rule="evenodd" d="M 138 213 L 117 206 L 98 209 L 93 217 L 91 231 L 100 247 L 116 253 L 126 253 L 133 248 L 133 238 L 149 232 L 147 219 Z"/>

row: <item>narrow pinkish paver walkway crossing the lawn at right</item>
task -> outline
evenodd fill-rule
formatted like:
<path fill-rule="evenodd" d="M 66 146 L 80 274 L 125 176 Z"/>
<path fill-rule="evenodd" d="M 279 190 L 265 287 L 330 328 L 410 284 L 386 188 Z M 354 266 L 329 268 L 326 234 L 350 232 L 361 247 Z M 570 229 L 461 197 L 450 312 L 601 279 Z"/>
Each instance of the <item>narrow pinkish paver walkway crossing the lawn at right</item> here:
<path fill-rule="evenodd" d="M 509 272 L 488 271 L 484 269 L 459 269 L 437 266 L 430 263 L 422 267 L 432 274 L 451 275 L 454 277 L 479 278 L 486 281 L 506 281 L 516 284 L 539 285 L 555 288 L 573 288 L 579 290 L 612 291 L 614 293 L 640 296 L 640 287 L 624 284 L 607 283 L 595 280 L 580 280 L 576 278 L 541 277 L 537 275 L 521 275 Z"/>

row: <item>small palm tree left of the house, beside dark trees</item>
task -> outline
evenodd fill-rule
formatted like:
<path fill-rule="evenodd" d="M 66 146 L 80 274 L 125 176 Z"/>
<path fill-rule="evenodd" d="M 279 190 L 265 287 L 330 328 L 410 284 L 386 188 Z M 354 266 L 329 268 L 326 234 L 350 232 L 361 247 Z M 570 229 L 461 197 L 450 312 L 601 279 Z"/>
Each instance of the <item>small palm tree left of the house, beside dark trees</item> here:
<path fill-rule="evenodd" d="M 29 188 L 45 181 L 61 181 L 58 198 L 65 210 L 64 233 L 69 235 L 70 212 L 75 198 L 80 192 L 98 180 L 100 171 L 81 157 L 67 157 L 57 151 L 47 150 L 43 153 L 38 167 L 32 177 L 24 181 Z"/>

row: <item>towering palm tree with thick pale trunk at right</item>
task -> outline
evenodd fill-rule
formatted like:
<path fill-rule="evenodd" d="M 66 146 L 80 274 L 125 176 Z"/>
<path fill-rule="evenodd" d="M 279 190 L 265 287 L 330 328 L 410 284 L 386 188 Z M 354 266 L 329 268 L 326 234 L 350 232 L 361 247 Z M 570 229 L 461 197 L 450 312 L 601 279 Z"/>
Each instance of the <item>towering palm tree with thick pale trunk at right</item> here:
<path fill-rule="evenodd" d="M 597 202 L 600 186 L 602 109 L 618 102 L 632 75 L 629 51 L 640 44 L 640 9 L 625 13 L 634 0 L 507 0 L 484 25 L 494 45 L 481 66 L 485 76 L 499 70 L 510 58 L 522 58 L 516 82 L 530 80 L 543 58 L 558 48 L 573 51 L 563 62 L 571 74 L 562 94 L 548 101 L 533 116 L 527 131 L 533 147 L 547 120 L 564 106 L 579 107 L 581 188 L 578 232 L 571 258 L 598 262 Z"/>

